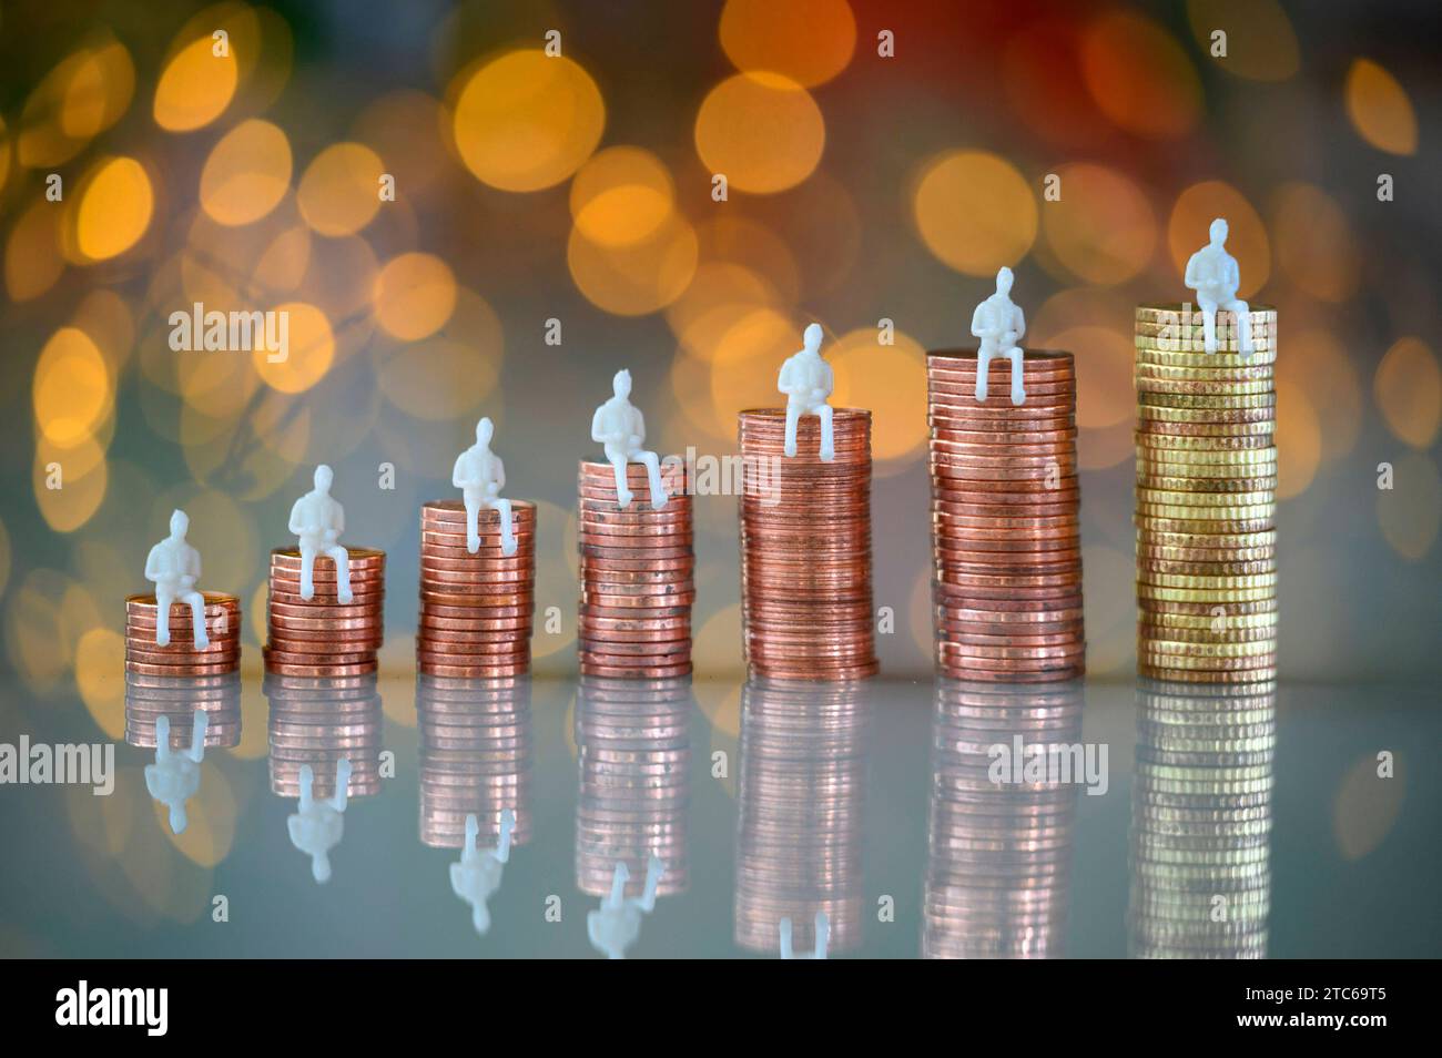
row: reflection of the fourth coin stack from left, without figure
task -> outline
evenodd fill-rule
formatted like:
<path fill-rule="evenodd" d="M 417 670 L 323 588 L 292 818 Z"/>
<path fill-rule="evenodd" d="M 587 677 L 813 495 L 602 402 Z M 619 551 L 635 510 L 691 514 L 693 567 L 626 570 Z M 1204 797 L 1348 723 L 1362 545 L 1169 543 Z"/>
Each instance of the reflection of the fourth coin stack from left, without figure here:
<path fill-rule="evenodd" d="M 652 856 L 666 895 L 691 884 L 691 680 L 584 676 L 575 701 L 581 788 L 575 800 L 575 884 L 603 897 L 616 863 L 639 897 Z"/>

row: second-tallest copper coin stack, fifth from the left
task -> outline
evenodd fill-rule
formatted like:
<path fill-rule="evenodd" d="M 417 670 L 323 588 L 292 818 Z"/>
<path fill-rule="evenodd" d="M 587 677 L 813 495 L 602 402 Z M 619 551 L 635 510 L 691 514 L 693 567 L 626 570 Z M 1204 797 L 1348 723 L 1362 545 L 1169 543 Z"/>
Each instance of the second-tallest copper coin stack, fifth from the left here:
<path fill-rule="evenodd" d="M 871 412 L 836 408 L 835 458 L 803 415 L 787 457 L 786 411 L 740 415 L 741 646 L 751 676 L 877 673 L 871 610 Z"/>

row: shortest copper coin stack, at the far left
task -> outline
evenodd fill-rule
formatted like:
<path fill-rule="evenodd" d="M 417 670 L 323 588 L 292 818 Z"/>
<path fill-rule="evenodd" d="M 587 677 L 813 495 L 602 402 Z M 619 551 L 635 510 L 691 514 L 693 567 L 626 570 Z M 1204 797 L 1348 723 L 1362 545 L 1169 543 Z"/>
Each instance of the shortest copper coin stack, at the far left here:
<path fill-rule="evenodd" d="M 209 646 L 196 649 L 190 607 L 172 603 L 167 620 L 170 643 L 156 644 L 154 595 L 125 600 L 125 672 L 136 676 L 221 676 L 241 667 L 241 601 L 219 591 L 205 597 L 205 634 Z"/>

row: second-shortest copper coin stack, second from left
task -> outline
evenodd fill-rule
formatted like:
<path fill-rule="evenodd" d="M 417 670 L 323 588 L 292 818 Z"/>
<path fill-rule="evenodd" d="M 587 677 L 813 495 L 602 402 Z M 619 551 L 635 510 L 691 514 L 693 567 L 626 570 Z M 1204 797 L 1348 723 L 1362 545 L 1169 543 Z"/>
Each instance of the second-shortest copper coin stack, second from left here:
<path fill-rule="evenodd" d="M 376 669 L 385 604 L 385 552 L 350 548 L 349 603 L 336 598 L 336 564 L 317 555 L 311 566 L 314 595 L 300 597 L 300 552 L 271 552 L 270 643 L 265 672 L 301 679 L 365 676 Z M 319 778 L 317 778 L 319 781 Z"/>

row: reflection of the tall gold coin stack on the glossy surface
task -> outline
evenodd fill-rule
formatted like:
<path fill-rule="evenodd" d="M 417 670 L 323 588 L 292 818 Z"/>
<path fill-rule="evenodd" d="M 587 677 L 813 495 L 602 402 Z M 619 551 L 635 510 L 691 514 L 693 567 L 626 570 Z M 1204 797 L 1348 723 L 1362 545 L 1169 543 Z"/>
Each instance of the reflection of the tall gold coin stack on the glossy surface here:
<path fill-rule="evenodd" d="M 1276 685 L 1138 689 L 1132 954 L 1262 959 Z"/>

